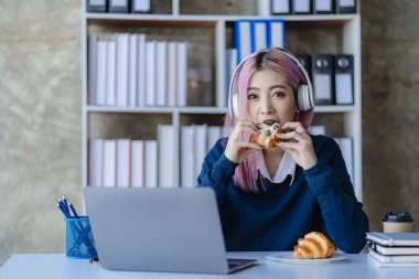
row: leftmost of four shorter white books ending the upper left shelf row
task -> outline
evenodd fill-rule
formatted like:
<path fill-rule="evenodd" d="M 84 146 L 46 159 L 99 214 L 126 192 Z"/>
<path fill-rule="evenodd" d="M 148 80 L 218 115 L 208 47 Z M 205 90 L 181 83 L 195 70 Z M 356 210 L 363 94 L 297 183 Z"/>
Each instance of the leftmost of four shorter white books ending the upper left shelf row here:
<path fill-rule="evenodd" d="M 146 42 L 146 106 L 155 106 L 155 41 Z"/>

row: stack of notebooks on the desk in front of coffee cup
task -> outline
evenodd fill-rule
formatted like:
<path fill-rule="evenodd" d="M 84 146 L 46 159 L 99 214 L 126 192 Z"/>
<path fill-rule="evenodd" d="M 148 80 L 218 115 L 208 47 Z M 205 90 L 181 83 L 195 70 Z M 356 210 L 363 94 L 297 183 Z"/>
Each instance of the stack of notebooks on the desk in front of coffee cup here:
<path fill-rule="evenodd" d="M 419 233 L 367 233 L 368 258 L 379 267 L 419 267 Z"/>

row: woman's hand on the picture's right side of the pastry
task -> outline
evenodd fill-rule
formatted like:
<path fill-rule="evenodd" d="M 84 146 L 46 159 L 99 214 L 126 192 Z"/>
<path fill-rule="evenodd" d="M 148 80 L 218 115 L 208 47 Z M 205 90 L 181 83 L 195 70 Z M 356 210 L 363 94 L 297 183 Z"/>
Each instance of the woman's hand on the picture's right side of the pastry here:
<path fill-rule="evenodd" d="M 314 167 L 318 163 L 318 157 L 314 153 L 313 142 L 311 137 L 307 133 L 301 122 L 287 122 L 282 129 L 290 129 L 292 131 L 286 133 L 277 133 L 280 139 L 291 139 L 287 142 L 277 142 L 277 146 L 283 151 L 288 152 L 296 163 L 304 170 Z"/>

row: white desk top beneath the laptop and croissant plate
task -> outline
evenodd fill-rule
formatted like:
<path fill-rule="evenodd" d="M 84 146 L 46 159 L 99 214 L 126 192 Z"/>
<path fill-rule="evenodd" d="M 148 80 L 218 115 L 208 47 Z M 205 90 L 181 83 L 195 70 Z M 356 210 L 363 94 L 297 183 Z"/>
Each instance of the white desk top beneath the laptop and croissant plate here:
<path fill-rule="evenodd" d="M 88 260 L 67 259 L 63 254 L 13 255 L 0 269 L 1 279 L 14 278 L 418 278 L 418 268 L 378 268 L 366 254 L 348 254 L 346 259 L 323 265 L 290 265 L 267 260 L 270 251 L 228 253 L 228 257 L 256 258 L 258 265 L 226 276 L 196 273 L 164 273 L 138 271 L 109 271 Z"/>

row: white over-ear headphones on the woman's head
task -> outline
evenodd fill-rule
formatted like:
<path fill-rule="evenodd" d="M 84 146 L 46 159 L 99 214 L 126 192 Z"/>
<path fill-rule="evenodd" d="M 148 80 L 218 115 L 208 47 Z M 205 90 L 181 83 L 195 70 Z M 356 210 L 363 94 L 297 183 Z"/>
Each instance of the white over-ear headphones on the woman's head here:
<path fill-rule="evenodd" d="M 233 84 L 234 84 L 234 81 L 236 79 L 238 71 L 241 68 L 243 64 L 247 60 L 257 56 L 259 53 L 269 52 L 271 50 L 279 50 L 282 53 L 284 53 L 288 57 L 290 57 L 293 62 L 296 62 L 297 66 L 301 69 L 301 72 L 303 73 L 305 77 L 305 81 L 308 84 L 300 84 L 297 87 L 297 103 L 298 103 L 297 106 L 299 110 L 305 111 L 314 107 L 313 85 L 310 81 L 309 74 L 304 69 L 304 66 L 301 65 L 298 58 L 294 55 L 292 55 L 290 52 L 288 52 L 287 50 L 280 49 L 280 47 L 271 47 L 271 49 L 255 52 L 246 56 L 245 58 L 243 58 L 243 61 L 237 65 L 236 69 L 234 71 L 232 79 L 229 82 L 229 90 L 228 90 L 228 111 L 229 111 L 230 117 L 236 118 L 236 119 L 239 118 L 238 93 L 233 93 Z"/>

